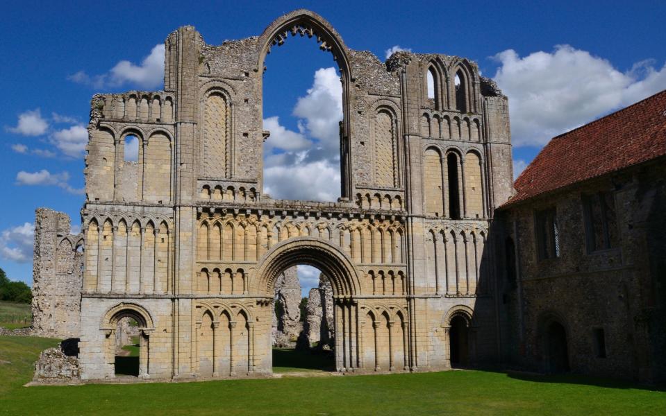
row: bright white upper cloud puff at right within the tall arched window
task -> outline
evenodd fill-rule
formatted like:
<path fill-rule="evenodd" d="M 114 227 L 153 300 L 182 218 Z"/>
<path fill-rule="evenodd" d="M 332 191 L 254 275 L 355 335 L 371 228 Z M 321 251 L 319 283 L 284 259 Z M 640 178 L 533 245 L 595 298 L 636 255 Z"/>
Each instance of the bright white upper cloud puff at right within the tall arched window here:
<path fill-rule="evenodd" d="M 315 71 L 313 87 L 298 99 L 293 114 L 303 119 L 308 135 L 318 139 L 324 148 L 340 148 L 338 123 L 342 120 L 342 84 L 335 68 Z"/>

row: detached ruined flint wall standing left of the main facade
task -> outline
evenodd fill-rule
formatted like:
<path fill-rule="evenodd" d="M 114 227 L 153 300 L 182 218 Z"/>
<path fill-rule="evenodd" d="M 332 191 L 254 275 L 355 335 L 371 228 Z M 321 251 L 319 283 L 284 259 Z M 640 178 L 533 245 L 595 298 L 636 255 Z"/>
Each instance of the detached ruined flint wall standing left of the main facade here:
<path fill-rule="evenodd" d="M 32 309 L 34 333 L 41 336 L 79 335 L 83 234 L 70 231 L 66 214 L 45 208 L 36 211 Z"/>

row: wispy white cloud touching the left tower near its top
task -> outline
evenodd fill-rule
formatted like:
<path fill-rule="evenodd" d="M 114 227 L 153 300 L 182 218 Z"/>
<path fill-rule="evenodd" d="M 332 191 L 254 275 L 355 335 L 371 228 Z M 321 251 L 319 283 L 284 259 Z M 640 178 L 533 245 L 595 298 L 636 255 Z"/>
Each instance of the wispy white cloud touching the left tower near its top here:
<path fill-rule="evenodd" d="M 90 85 L 93 88 L 120 87 L 131 84 L 135 87 L 152 89 L 160 87 L 164 79 L 164 44 L 157 44 L 151 49 L 141 64 L 122 60 L 115 64 L 108 73 L 89 76 L 85 71 L 78 71 L 67 79 L 75 83 Z"/>

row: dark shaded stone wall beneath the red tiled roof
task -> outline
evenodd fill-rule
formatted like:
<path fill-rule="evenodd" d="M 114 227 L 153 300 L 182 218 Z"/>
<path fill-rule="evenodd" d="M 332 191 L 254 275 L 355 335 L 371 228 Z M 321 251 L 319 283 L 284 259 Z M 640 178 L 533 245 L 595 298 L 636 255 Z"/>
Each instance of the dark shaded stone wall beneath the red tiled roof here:
<path fill-rule="evenodd" d="M 548 329 L 556 322 L 565 329 L 573 372 L 664 379 L 666 239 L 659 230 L 666 221 L 665 175 L 663 162 L 656 162 L 503 212 L 501 250 L 515 250 L 515 257 L 501 256 L 499 268 L 511 363 L 552 371 Z M 599 233 L 590 226 L 584 205 L 588 196 L 599 195 L 608 202 L 606 212 L 613 213 L 607 234 L 613 243 L 601 250 L 589 243 Z M 556 215 L 558 255 L 544 259 L 535 213 L 547 209 Z"/>

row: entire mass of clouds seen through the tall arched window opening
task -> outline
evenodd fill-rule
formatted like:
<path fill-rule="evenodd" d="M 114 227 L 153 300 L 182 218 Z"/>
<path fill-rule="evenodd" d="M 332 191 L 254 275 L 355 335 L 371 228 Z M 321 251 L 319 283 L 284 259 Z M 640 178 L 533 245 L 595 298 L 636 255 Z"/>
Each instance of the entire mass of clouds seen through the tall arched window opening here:
<path fill-rule="evenodd" d="M 271 137 L 264 148 L 264 191 L 273 198 L 335 201 L 340 196 L 342 85 L 335 68 L 315 71 L 313 85 L 297 99 L 299 131 L 264 119 Z"/>

